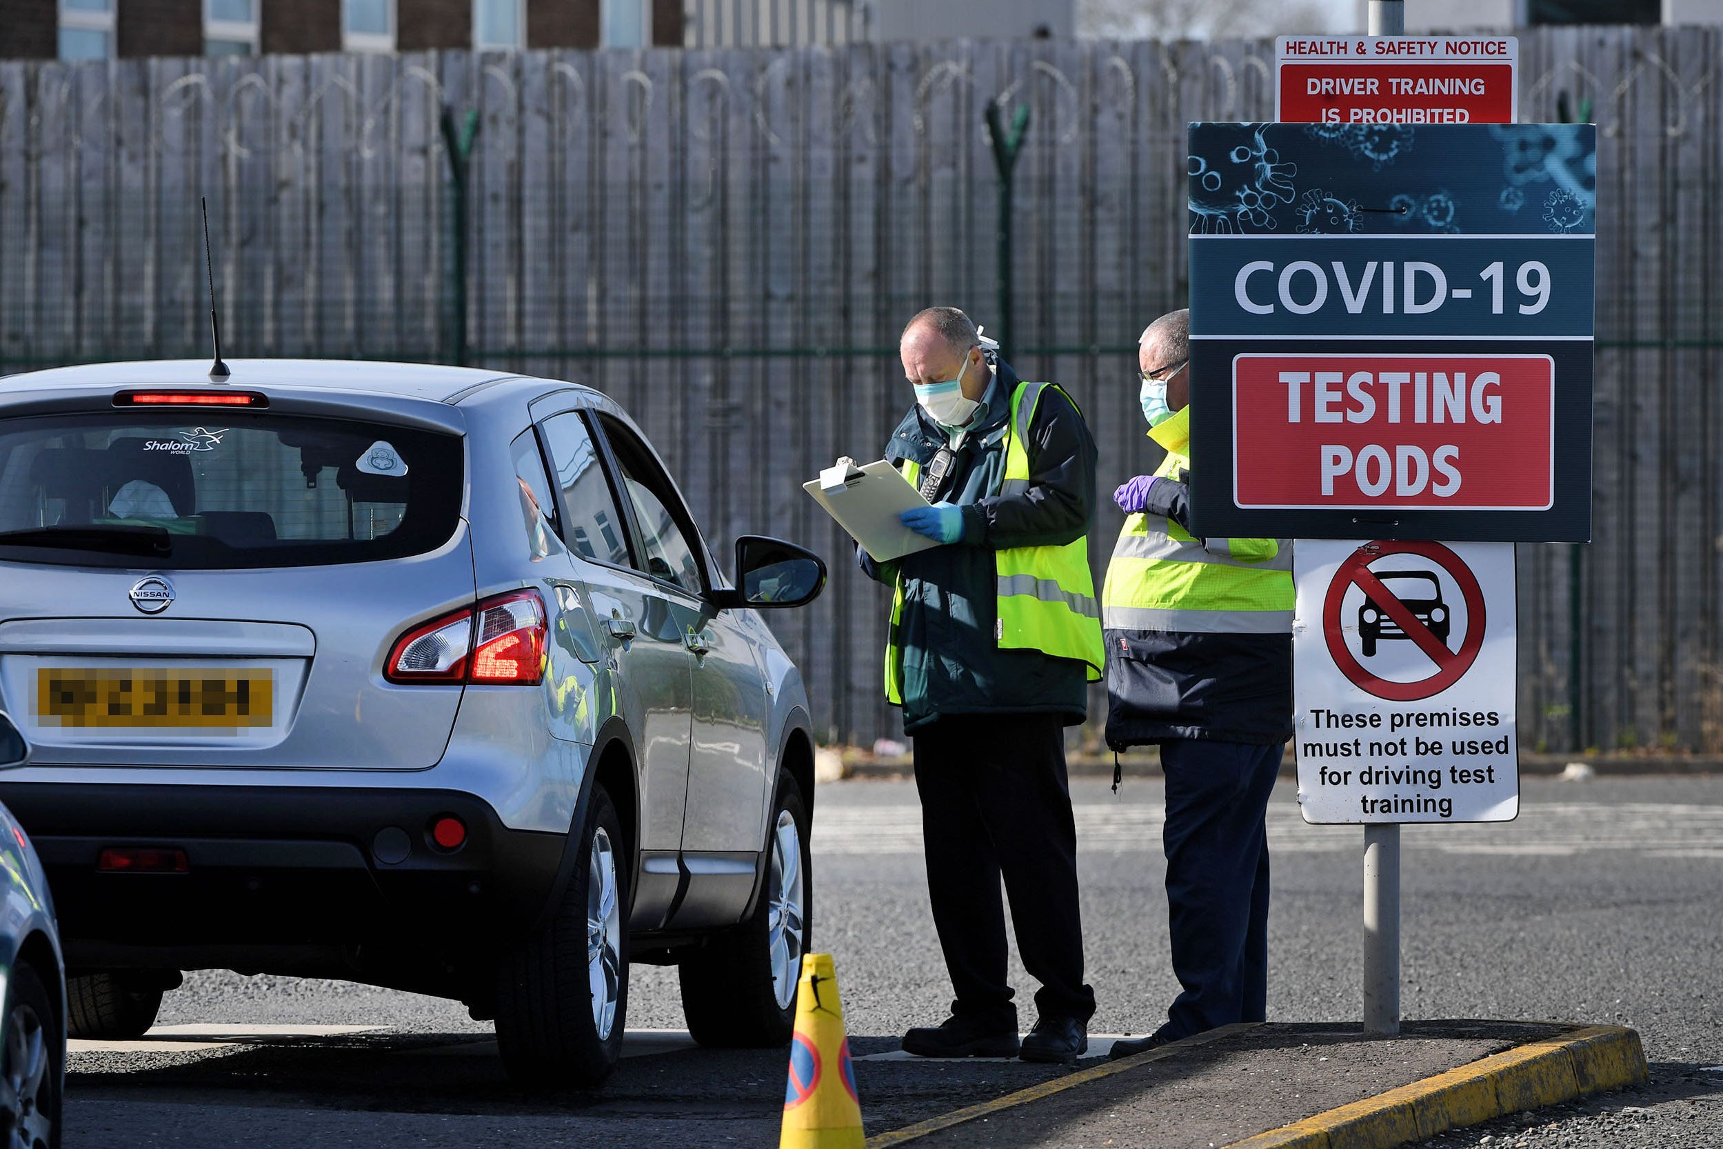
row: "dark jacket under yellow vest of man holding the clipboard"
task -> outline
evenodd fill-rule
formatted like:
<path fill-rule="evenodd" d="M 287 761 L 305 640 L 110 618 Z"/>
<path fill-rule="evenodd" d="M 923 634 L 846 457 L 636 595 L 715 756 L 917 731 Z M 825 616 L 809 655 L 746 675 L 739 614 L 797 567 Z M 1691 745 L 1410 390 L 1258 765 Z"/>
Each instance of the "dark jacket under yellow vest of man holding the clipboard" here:
<path fill-rule="evenodd" d="M 994 643 L 998 567 L 994 551 L 1063 546 L 1089 532 L 1094 515 L 1096 446 L 1072 401 L 1054 389 L 1041 398 L 1029 427 L 1030 486 L 1023 494 L 989 494 L 1005 475 L 1005 438 L 1017 374 L 999 363 L 986 415 L 963 438 L 934 501 L 963 508 L 963 537 L 875 563 L 856 548 L 868 577 L 893 586 L 903 572 L 903 729 L 939 715 L 1061 713 L 1070 725 L 1087 715 L 1087 668 L 1036 651 L 1001 651 Z M 913 407 L 886 444 L 894 465 L 927 465 L 946 432 Z"/>

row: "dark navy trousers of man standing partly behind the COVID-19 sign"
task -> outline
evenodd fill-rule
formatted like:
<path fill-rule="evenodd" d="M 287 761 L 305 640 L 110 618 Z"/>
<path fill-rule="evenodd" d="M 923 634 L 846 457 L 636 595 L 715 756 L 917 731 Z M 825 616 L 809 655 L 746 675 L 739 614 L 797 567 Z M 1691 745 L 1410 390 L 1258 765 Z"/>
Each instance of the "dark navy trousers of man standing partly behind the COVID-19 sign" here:
<path fill-rule="evenodd" d="M 1268 835 L 1280 746 L 1179 739 L 1166 772 L 1166 910 L 1173 973 L 1168 1040 L 1261 1022 L 1268 1001 Z"/>

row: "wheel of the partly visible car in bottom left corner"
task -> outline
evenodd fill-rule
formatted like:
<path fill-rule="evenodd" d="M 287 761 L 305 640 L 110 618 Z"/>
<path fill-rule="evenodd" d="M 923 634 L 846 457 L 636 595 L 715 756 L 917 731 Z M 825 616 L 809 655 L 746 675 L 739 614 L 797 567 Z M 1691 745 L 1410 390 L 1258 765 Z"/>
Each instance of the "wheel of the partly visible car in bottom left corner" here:
<path fill-rule="evenodd" d="M 0 1032 L 0 1144 L 60 1147 L 60 1082 L 65 1042 L 60 1015 L 29 961 L 12 966 Z"/>

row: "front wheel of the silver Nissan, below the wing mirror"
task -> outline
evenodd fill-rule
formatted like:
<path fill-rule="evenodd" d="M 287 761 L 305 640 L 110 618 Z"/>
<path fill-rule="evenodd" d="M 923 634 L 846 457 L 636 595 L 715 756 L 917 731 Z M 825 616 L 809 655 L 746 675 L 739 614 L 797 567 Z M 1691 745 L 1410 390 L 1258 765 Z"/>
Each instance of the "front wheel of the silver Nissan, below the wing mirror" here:
<path fill-rule="evenodd" d="M 679 963 L 682 1015 L 701 1046 L 770 1049 L 789 1044 L 796 1028 L 796 985 L 813 925 L 813 870 L 808 806 L 789 773 L 779 782 L 768 825 L 767 885 L 755 911 Z"/>

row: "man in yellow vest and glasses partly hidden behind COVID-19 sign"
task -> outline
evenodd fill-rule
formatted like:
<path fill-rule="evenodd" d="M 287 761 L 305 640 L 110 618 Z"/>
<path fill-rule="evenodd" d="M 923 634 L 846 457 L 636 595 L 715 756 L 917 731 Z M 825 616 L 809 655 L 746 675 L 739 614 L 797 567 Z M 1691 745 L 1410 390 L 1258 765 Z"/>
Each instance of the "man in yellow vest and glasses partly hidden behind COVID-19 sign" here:
<path fill-rule="evenodd" d="M 1232 1022 L 1261 1022 L 1268 994 L 1265 815 L 1292 737 L 1289 539 L 1189 531 L 1191 312 L 1137 346 L 1142 413 L 1166 450 L 1113 496 L 1127 513 L 1101 591 L 1106 742 L 1158 744 L 1166 773 L 1166 901 L 1184 991 L 1125 1058 Z"/>

